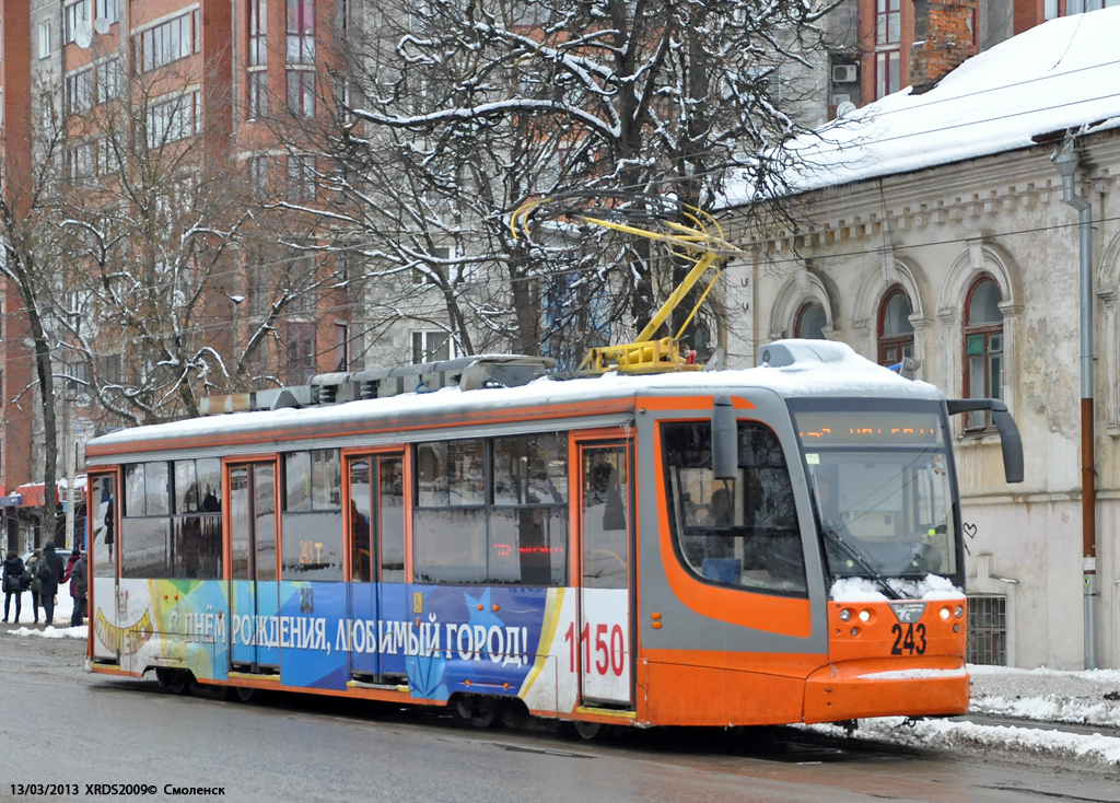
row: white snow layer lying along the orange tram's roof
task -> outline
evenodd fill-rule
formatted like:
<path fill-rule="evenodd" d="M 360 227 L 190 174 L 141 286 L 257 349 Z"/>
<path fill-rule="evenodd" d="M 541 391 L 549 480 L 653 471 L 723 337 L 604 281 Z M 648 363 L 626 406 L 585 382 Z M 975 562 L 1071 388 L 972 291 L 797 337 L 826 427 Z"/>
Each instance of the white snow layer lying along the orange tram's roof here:
<path fill-rule="evenodd" d="M 317 423 L 345 426 L 347 422 L 382 419 L 412 419 L 463 413 L 603 402 L 646 395 L 688 395 L 704 393 L 746 393 L 771 390 L 784 398 L 890 398 L 941 400 L 942 393 L 926 382 L 907 380 L 856 354 L 842 343 L 778 340 L 759 349 L 787 348 L 788 364 L 763 363 L 753 368 L 696 371 L 687 373 L 627 375 L 608 373 L 603 376 L 556 379 L 544 376 L 519 388 L 487 388 L 463 391 L 442 388 L 426 393 L 403 393 L 384 399 L 368 399 L 329 405 L 282 408 L 256 412 L 158 423 L 122 429 L 94 438 L 88 446 L 122 447 L 140 441 L 197 438 L 221 431 L 224 436 L 289 427 L 314 427 Z"/>

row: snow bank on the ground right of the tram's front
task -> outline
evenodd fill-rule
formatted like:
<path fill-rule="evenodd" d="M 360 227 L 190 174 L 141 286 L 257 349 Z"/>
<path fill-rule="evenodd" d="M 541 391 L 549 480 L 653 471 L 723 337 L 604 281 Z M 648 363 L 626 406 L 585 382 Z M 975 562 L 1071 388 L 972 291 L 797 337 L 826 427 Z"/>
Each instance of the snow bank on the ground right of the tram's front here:
<path fill-rule="evenodd" d="M 1099 767 L 1120 767 L 1120 738 L 1101 734 L 1071 734 L 1037 727 L 1070 723 L 1120 727 L 1120 671 L 1061 672 L 1046 667 L 1019 670 L 969 666 L 972 675 L 972 713 L 1019 717 L 1021 726 L 902 717 L 861 719 L 853 738 L 943 750 L 980 750 L 1038 756 Z M 839 726 L 814 726 L 843 736 Z"/>

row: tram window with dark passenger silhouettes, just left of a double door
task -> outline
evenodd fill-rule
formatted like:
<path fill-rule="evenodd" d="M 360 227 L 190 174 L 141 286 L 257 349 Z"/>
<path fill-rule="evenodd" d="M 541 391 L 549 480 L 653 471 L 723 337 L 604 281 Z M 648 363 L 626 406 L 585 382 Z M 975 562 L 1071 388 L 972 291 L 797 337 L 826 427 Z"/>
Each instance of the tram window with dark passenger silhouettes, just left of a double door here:
<path fill-rule="evenodd" d="M 222 577 L 222 463 L 176 460 L 171 517 L 172 577 Z"/>

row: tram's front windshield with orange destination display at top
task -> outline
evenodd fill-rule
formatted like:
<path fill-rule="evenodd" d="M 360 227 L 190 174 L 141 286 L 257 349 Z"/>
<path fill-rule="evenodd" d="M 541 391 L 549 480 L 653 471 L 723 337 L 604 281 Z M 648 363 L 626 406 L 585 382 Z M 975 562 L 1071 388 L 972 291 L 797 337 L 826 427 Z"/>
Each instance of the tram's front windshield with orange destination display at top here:
<path fill-rule="evenodd" d="M 794 408 L 829 573 L 956 575 L 953 486 L 940 408 L 830 404 Z"/>

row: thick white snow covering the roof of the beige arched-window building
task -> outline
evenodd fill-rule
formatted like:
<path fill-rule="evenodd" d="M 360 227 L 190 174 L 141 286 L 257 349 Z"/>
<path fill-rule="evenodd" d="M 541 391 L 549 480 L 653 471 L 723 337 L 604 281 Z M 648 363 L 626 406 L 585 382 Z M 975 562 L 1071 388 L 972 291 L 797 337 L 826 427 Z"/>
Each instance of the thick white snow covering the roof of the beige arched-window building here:
<path fill-rule="evenodd" d="M 883 97 L 786 146 L 796 192 L 1029 148 L 1120 127 L 1120 7 L 1061 17 L 964 62 L 924 94 Z M 734 185 L 727 203 L 746 203 Z"/>

